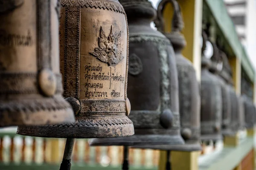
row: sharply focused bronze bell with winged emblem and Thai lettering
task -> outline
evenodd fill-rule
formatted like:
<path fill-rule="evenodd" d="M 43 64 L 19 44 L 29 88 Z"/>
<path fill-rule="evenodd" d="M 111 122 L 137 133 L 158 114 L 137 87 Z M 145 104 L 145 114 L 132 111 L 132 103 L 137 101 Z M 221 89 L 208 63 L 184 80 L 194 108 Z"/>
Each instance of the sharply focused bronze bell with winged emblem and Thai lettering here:
<path fill-rule="evenodd" d="M 57 138 L 130 136 L 128 26 L 118 0 L 61 0 L 60 56 L 72 124 L 19 127 L 18 134 Z M 38 133 L 40 132 L 40 133 Z"/>

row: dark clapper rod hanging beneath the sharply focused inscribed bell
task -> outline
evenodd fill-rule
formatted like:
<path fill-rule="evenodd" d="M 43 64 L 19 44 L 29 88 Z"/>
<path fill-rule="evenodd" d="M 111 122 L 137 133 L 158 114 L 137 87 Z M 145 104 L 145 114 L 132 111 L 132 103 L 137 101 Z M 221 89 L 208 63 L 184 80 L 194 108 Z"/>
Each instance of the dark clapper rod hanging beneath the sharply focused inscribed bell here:
<path fill-rule="evenodd" d="M 74 143 L 75 139 L 67 138 L 60 170 L 71 169 L 71 156 L 73 152 Z"/>

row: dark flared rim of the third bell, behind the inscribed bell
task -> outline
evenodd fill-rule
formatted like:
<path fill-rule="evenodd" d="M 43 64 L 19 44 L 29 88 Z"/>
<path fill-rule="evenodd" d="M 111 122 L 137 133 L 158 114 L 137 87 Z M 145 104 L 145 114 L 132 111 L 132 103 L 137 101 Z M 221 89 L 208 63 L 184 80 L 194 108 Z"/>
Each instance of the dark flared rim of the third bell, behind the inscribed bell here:
<path fill-rule="evenodd" d="M 169 144 L 177 145 L 184 144 L 181 136 L 175 135 L 133 135 L 121 138 L 108 139 L 91 139 L 90 146 L 144 146 L 144 145 L 160 145 Z"/>

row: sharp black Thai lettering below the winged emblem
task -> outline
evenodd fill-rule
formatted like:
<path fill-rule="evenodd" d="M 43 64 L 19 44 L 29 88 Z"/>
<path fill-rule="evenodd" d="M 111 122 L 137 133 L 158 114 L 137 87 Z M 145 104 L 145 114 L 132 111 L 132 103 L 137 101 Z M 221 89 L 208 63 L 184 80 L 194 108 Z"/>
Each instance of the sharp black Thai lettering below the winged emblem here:
<path fill-rule="evenodd" d="M 90 63 L 89 63 L 90 64 Z M 92 97 L 108 97 L 110 92 L 104 91 L 104 88 L 111 89 L 111 82 L 125 83 L 125 76 L 118 73 L 112 73 L 112 68 L 109 67 L 108 72 L 102 72 L 102 66 L 99 65 L 85 65 L 84 87 L 86 88 L 85 97 L 91 99 Z M 89 80 L 95 80 L 99 82 L 90 82 Z M 90 90 L 92 89 L 92 90 Z M 103 91 L 99 91 L 102 89 Z M 121 97 L 121 93 L 112 90 L 110 96 L 113 98 Z"/>

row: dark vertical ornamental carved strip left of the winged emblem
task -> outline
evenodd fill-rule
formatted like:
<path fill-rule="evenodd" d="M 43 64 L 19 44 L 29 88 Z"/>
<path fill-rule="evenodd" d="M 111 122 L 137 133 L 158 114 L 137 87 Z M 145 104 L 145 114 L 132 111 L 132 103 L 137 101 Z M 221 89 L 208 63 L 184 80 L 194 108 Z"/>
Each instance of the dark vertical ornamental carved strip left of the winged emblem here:
<path fill-rule="evenodd" d="M 65 15 L 64 97 L 79 98 L 81 10 L 71 6 Z"/>

